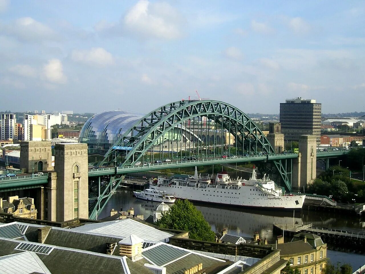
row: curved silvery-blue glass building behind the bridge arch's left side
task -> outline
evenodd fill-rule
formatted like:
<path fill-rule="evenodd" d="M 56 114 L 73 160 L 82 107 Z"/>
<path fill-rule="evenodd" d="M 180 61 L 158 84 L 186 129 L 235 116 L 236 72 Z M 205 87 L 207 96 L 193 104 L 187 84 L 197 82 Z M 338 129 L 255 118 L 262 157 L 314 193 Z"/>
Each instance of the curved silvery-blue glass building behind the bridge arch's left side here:
<path fill-rule="evenodd" d="M 89 154 L 104 155 L 144 115 L 124 110 L 100 112 L 86 121 L 78 140 L 88 144 Z"/>

